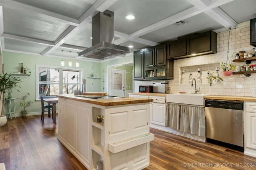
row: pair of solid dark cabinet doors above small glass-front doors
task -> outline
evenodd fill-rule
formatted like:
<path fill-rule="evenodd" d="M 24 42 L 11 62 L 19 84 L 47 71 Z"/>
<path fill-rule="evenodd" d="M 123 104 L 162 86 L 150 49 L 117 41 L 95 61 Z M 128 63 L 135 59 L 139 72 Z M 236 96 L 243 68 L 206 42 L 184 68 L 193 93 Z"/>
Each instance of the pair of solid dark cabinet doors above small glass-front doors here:
<path fill-rule="evenodd" d="M 145 68 L 166 66 L 166 45 L 157 45 L 144 50 Z"/>

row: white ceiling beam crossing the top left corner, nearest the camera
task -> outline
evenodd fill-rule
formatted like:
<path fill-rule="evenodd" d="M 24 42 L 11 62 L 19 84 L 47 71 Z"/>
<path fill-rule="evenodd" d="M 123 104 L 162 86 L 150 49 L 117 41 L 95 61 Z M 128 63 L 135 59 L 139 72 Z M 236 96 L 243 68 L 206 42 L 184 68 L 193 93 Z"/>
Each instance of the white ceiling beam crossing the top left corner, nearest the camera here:
<path fill-rule="evenodd" d="M 76 20 L 74 18 L 63 16 L 63 15 L 60 15 L 60 14 L 57 14 L 54 12 L 50 12 L 47 10 L 42 10 L 40 8 L 32 7 L 32 6 L 22 4 L 22 3 L 16 2 L 16 1 L 12 1 L 12 0 L 1 1 L 1 6 L 5 7 L 5 8 L 12 9 L 12 10 L 18 10 L 21 12 L 32 12 L 34 14 L 40 14 L 44 17 L 51 18 L 53 20 L 57 20 L 57 21 L 60 21 L 60 22 L 63 22 L 63 23 L 69 24 L 69 25 L 77 26 L 79 24 L 78 20 Z"/>

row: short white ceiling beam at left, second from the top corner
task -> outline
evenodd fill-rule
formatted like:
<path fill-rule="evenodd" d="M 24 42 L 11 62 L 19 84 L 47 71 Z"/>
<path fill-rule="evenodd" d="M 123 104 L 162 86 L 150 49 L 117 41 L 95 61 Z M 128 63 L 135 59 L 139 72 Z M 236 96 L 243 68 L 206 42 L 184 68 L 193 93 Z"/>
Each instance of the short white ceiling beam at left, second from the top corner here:
<path fill-rule="evenodd" d="M 30 37 L 24 37 L 24 36 L 21 36 L 21 35 L 12 35 L 12 34 L 8 34 L 8 33 L 3 33 L 1 35 L 1 37 L 8 38 L 8 39 L 16 39 L 16 40 L 20 40 L 20 41 L 26 41 L 26 42 L 30 42 L 30 43 L 48 45 L 48 46 L 54 46 L 55 45 L 54 42 L 52 42 L 52 41 L 46 41 L 46 40 L 35 39 L 35 38 L 30 38 Z"/>

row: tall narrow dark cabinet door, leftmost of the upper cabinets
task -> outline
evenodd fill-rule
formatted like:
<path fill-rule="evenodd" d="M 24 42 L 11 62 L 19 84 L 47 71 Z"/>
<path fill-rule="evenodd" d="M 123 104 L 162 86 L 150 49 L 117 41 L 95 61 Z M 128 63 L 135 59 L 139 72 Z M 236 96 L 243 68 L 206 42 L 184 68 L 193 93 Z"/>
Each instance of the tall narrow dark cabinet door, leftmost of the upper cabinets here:
<path fill-rule="evenodd" d="M 144 79 L 144 51 L 136 51 L 133 56 L 134 63 L 134 80 L 143 80 Z"/>

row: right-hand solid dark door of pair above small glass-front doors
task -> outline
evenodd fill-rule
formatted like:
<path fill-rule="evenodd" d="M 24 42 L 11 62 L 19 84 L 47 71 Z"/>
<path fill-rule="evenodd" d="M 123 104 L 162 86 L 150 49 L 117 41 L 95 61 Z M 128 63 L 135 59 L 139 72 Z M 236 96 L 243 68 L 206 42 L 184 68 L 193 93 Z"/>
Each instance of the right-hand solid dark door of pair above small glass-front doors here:
<path fill-rule="evenodd" d="M 159 45 L 155 47 L 155 65 L 154 66 L 166 66 L 166 45 Z"/>

